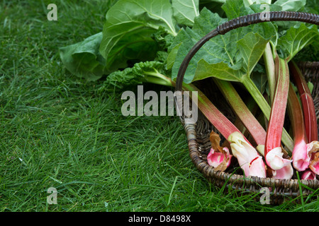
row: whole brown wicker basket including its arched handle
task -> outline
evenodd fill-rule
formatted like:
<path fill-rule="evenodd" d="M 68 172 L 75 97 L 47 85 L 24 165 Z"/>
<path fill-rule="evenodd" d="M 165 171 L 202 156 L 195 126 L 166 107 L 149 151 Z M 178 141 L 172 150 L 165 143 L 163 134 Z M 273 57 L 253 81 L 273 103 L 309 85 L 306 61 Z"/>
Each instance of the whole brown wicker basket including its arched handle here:
<path fill-rule="evenodd" d="M 308 13 L 301 13 L 296 16 L 296 12 L 272 12 L 271 20 L 298 20 L 306 23 L 319 24 L 319 16 Z M 292 15 L 289 17 L 285 13 Z M 257 16 L 256 16 L 257 15 Z M 280 16 L 281 15 L 281 16 Z M 294 16 L 293 16 L 294 15 Z M 245 18 L 246 17 L 246 18 Z M 302 17 L 302 18 L 301 18 Z M 181 90 L 181 82 L 184 78 L 184 73 L 189 61 L 198 51 L 201 46 L 207 42 L 207 40 L 215 37 L 216 35 L 223 35 L 229 30 L 238 28 L 240 26 L 250 25 L 251 23 L 260 23 L 259 14 L 244 16 L 230 20 L 223 25 L 220 25 L 216 30 L 210 32 L 206 37 L 203 37 L 194 47 L 191 49 L 188 55 L 186 55 L 177 76 L 176 90 Z M 285 18 L 285 19 L 283 19 Z M 289 19 L 287 19 L 289 18 Z M 307 18 L 307 19 L 305 19 Z M 310 18 L 310 19 L 309 19 Z M 313 98 L 315 101 L 315 108 L 317 119 L 319 115 L 319 83 L 318 83 L 318 71 L 319 63 L 301 63 L 299 67 L 303 71 L 306 79 L 312 81 L 315 85 L 313 90 Z M 205 93 L 205 92 L 204 92 Z M 211 100 L 214 99 L 211 93 L 205 93 Z M 268 188 L 270 195 L 270 204 L 277 205 L 285 201 L 287 198 L 296 198 L 296 201 L 300 201 L 297 198 L 301 193 L 308 197 L 308 200 L 318 198 L 316 190 L 319 190 L 319 180 L 298 180 L 296 175 L 293 179 L 272 179 L 272 178 L 260 178 L 260 177 L 245 177 L 242 174 L 242 170 L 239 165 L 235 165 L 227 169 L 225 172 L 216 171 L 213 167 L 208 165 L 207 155 L 211 149 L 211 142 L 209 136 L 214 129 L 211 123 L 201 114 L 198 113 L 198 120 L 196 124 L 185 124 L 183 117 L 181 117 L 182 124 L 186 131 L 189 155 L 192 162 L 197 169 L 203 174 L 209 182 L 214 186 L 224 188 L 224 191 L 236 191 L 238 193 L 247 194 L 252 193 L 255 198 L 262 196 L 261 189 Z M 300 182 L 300 183 L 299 183 Z"/>

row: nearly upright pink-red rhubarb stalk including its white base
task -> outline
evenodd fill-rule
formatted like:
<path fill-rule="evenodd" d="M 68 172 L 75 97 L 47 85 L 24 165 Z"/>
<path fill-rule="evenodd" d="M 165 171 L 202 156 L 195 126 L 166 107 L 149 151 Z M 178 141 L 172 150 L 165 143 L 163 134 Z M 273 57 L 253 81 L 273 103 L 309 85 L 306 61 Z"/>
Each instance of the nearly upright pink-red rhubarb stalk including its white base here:
<path fill-rule="evenodd" d="M 286 113 L 286 104 L 289 90 L 289 69 L 286 60 L 278 60 L 276 65 L 276 91 L 272 102 L 272 111 L 269 118 L 267 129 L 264 156 L 267 165 L 274 171 L 277 171 L 273 177 L 278 179 L 290 179 L 293 174 L 291 160 L 282 157 L 281 134 L 284 128 L 284 119 Z M 283 169 L 286 167 L 286 169 Z M 281 174 L 278 170 L 284 170 Z"/>

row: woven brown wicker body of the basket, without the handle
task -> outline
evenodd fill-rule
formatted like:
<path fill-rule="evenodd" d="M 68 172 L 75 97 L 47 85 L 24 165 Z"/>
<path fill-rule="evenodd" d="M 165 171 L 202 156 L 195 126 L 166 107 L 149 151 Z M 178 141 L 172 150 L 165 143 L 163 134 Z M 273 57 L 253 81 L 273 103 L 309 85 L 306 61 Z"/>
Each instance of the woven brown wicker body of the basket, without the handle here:
<path fill-rule="evenodd" d="M 317 121 L 319 119 L 319 62 L 306 62 L 299 64 L 304 76 L 314 85 L 313 99 L 315 102 Z M 208 98 L 216 98 L 206 93 Z M 213 100 L 212 100 L 213 101 Z M 270 204 L 277 205 L 283 203 L 287 198 L 297 198 L 301 192 L 305 196 L 317 198 L 314 191 L 319 189 L 319 180 L 298 180 L 296 172 L 293 179 L 272 179 L 260 177 L 245 177 L 239 165 L 235 165 L 226 169 L 225 172 L 216 171 L 208 165 L 207 155 L 211 149 L 211 141 L 209 139 L 211 131 L 214 127 L 211 123 L 198 112 L 198 121 L 196 124 L 183 124 L 186 131 L 189 155 L 197 169 L 203 174 L 209 182 L 220 188 L 224 187 L 224 191 L 239 191 L 243 194 L 250 192 L 256 194 L 256 197 L 262 195 L 261 189 L 268 188 L 270 194 Z M 301 184 L 304 186 L 302 186 Z M 297 201 L 300 199 L 296 199 Z"/>

